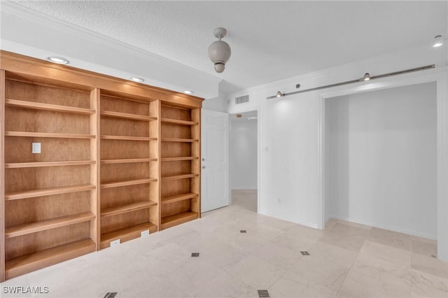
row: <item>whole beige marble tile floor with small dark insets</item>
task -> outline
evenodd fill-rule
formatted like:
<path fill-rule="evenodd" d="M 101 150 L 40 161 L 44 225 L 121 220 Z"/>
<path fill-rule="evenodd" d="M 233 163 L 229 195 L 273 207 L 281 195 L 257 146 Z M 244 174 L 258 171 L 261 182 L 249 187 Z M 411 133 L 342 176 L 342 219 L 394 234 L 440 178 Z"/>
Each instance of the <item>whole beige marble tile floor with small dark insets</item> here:
<path fill-rule="evenodd" d="M 448 297 L 435 241 L 341 220 L 320 231 L 255 204 L 255 192 L 234 192 L 231 206 L 200 220 L 13 278 L 0 296 Z M 49 292 L 4 292 L 14 285 Z"/>

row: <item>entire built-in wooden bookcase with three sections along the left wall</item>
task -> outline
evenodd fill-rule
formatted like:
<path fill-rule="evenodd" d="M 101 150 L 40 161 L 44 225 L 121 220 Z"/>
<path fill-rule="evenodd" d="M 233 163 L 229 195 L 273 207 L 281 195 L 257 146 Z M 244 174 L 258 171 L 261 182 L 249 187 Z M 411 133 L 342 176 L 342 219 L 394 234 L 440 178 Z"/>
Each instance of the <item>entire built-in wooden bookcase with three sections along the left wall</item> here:
<path fill-rule="evenodd" d="M 0 99 L 0 282 L 200 218 L 202 99 L 4 51 Z"/>

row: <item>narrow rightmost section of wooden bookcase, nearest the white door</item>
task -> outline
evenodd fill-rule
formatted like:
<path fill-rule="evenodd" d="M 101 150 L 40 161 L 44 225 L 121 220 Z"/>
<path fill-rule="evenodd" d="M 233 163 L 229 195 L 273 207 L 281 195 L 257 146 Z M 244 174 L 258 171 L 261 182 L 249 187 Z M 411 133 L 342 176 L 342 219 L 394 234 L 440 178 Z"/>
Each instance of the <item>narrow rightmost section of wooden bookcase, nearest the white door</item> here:
<path fill-rule="evenodd" d="M 160 229 L 200 218 L 200 109 L 161 108 Z"/>

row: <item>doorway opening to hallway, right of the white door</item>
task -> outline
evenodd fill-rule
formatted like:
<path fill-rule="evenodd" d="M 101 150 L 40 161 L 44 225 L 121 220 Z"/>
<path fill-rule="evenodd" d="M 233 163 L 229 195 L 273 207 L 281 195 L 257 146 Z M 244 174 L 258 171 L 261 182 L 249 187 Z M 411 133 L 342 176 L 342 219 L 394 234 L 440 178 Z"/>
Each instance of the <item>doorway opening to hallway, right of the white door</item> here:
<path fill-rule="evenodd" d="M 232 204 L 258 211 L 258 111 L 230 115 Z"/>

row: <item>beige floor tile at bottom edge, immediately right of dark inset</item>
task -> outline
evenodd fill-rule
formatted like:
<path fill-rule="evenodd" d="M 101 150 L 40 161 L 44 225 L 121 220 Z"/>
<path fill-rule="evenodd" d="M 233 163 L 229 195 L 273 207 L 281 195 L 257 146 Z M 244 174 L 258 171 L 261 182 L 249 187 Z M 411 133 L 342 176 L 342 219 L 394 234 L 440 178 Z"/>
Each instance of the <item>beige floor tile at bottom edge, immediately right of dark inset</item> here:
<path fill-rule="evenodd" d="M 336 297 L 337 292 L 302 278 L 292 271 L 287 271 L 269 288 L 269 295 L 271 297 L 323 298 Z"/>

